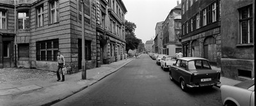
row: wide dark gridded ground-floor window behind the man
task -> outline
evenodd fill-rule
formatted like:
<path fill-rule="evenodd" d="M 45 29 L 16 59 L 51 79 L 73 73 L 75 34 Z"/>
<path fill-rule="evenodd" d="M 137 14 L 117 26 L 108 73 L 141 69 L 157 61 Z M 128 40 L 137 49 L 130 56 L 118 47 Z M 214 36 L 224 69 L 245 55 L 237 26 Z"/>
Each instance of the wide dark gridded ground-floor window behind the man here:
<path fill-rule="evenodd" d="M 59 40 L 36 42 L 36 61 L 57 61 Z"/>

